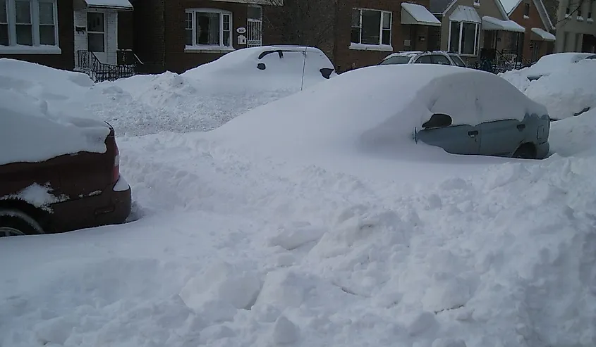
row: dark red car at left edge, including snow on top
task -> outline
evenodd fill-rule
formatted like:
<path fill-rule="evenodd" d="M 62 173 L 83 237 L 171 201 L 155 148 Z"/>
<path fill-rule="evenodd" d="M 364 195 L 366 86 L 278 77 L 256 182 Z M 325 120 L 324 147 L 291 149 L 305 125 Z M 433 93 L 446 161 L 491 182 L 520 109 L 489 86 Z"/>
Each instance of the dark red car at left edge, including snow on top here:
<path fill-rule="evenodd" d="M 54 117 L 47 103 L 0 90 L 0 236 L 125 222 L 130 186 L 114 129 Z"/>

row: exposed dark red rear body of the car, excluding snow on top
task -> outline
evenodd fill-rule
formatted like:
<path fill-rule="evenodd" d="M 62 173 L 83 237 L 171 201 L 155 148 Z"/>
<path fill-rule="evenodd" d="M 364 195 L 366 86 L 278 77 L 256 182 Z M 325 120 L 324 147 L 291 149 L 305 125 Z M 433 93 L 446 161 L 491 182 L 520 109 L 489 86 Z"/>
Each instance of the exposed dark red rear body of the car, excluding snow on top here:
<path fill-rule="evenodd" d="M 114 128 L 107 123 L 106 127 L 104 153 L 79 151 L 0 165 L 0 236 L 67 232 L 126 221 L 130 186 L 120 175 Z M 1 151 L 19 151 L 4 142 L 0 138 Z"/>

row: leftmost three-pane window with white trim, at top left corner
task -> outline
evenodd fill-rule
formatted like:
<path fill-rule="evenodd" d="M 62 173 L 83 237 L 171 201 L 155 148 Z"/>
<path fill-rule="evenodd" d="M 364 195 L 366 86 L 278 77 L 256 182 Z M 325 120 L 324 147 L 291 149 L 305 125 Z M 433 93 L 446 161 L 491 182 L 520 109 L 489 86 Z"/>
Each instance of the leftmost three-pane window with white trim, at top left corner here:
<path fill-rule="evenodd" d="M 0 50 L 58 46 L 56 0 L 0 0 Z"/>

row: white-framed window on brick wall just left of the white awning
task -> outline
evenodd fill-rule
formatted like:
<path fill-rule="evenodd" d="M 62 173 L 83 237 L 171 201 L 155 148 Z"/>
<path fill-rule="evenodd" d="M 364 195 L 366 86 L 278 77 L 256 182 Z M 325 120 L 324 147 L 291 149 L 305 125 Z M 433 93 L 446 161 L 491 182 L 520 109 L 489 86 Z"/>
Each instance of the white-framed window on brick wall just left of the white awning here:
<path fill-rule="evenodd" d="M 391 45 L 391 12 L 352 9 L 353 44 Z"/>

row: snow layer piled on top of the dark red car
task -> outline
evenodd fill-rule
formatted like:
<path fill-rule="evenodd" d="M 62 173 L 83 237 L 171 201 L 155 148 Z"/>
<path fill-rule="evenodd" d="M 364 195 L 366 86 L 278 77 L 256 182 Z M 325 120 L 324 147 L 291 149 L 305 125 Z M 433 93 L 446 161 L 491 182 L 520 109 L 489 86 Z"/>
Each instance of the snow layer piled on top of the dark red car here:
<path fill-rule="evenodd" d="M 110 131 L 106 123 L 53 113 L 51 96 L 12 82 L 0 79 L 0 165 L 39 162 L 79 151 L 106 151 Z"/>

